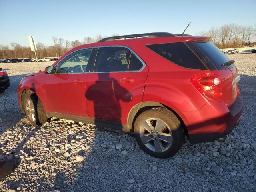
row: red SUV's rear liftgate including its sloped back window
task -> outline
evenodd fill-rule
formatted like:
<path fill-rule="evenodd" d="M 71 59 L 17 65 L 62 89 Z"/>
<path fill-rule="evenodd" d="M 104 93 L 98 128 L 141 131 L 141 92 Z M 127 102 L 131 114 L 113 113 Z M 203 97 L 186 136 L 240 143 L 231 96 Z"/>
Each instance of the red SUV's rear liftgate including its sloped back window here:
<path fill-rule="evenodd" d="M 222 66 L 222 64 L 230 61 L 230 59 L 211 42 L 194 42 L 194 44 L 202 51 L 204 56 L 208 58 L 213 68 L 215 68 L 215 70 L 212 70 L 212 73 L 220 76 L 222 100 L 227 106 L 230 106 L 236 100 L 237 82 L 240 79 L 235 65 Z"/>

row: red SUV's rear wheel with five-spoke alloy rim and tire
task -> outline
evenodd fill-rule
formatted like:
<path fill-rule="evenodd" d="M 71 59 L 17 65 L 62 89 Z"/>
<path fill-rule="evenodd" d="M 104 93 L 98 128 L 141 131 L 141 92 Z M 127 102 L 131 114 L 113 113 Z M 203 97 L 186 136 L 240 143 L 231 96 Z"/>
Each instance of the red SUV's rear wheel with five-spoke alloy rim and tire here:
<path fill-rule="evenodd" d="M 142 112 L 136 118 L 134 137 L 147 154 L 156 158 L 169 158 L 181 148 L 184 128 L 174 113 L 156 107 Z"/>

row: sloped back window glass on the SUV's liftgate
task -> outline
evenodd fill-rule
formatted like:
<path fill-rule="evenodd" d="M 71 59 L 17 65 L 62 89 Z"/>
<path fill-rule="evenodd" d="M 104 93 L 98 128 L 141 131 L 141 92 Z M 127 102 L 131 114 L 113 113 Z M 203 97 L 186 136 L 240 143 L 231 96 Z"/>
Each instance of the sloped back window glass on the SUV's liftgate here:
<path fill-rule="evenodd" d="M 224 55 L 212 42 L 194 42 L 194 44 L 208 57 L 217 69 L 232 68 L 234 65 L 221 66 L 230 59 Z"/>

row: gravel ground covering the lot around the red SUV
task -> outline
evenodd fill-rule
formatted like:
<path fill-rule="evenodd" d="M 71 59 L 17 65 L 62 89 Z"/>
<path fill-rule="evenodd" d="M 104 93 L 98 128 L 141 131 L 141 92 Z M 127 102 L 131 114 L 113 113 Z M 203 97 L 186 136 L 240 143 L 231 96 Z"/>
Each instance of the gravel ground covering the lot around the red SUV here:
<path fill-rule="evenodd" d="M 1 64 L 11 86 L 0 95 L 0 160 L 17 168 L 0 191 L 256 191 L 256 54 L 235 54 L 244 116 L 224 143 L 191 145 L 169 159 L 140 150 L 134 136 L 52 118 L 31 126 L 17 104 L 16 87 L 36 63 Z M 44 68 L 52 62 L 41 62 Z"/>

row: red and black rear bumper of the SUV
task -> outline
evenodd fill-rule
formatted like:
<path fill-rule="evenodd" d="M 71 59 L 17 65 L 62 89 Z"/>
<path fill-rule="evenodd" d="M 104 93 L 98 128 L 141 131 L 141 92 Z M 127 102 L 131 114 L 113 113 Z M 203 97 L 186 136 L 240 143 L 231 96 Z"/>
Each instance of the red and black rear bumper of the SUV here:
<path fill-rule="evenodd" d="M 242 114 L 243 100 L 240 96 L 230 107 L 224 102 L 209 102 L 198 111 L 199 122 L 187 126 L 190 143 L 213 142 L 223 138 L 238 125 Z"/>

